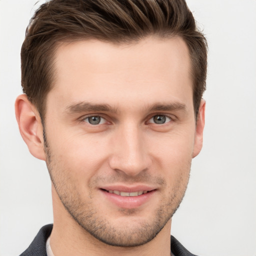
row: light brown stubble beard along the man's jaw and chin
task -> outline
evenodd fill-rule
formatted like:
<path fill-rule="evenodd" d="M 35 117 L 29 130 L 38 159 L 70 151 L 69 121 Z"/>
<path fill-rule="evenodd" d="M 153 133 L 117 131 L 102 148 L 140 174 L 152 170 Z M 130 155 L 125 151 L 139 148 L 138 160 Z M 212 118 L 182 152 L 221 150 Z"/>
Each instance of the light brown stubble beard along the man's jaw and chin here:
<path fill-rule="evenodd" d="M 45 132 L 44 151 L 51 181 L 64 208 L 85 231 L 99 241 L 112 246 L 134 247 L 151 241 L 179 207 L 188 183 L 189 171 L 185 182 L 180 175 L 179 182 L 173 187 L 168 198 L 163 198 L 165 203 L 155 209 L 152 219 L 137 221 L 137 223 L 132 221 L 132 224 L 126 226 L 125 224 L 114 225 L 105 218 L 104 212 L 98 212 L 96 205 L 93 205 L 93 200 L 85 201 L 81 198 L 75 182 L 70 182 L 72 179 L 70 175 L 68 176 L 69 171 L 64 170 L 63 167 L 59 168 L 54 155 L 50 151 Z M 190 164 L 188 168 L 190 169 Z M 67 175 L 64 176 L 63 173 Z M 120 211 L 127 218 L 136 219 L 135 209 L 120 209 Z"/>

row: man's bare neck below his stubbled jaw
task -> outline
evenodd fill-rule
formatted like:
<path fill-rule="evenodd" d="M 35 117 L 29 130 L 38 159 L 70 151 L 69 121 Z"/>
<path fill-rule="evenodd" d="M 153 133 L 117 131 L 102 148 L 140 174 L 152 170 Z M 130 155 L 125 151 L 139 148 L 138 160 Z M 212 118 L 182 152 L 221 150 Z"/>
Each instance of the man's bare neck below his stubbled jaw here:
<path fill-rule="evenodd" d="M 66 211 L 59 200 L 55 189 L 52 189 L 53 229 L 50 235 L 50 246 L 54 256 L 105 256 L 119 255 L 170 255 L 169 220 L 161 231 L 149 242 L 134 247 L 117 247 L 105 244 L 82 228 Z"/>

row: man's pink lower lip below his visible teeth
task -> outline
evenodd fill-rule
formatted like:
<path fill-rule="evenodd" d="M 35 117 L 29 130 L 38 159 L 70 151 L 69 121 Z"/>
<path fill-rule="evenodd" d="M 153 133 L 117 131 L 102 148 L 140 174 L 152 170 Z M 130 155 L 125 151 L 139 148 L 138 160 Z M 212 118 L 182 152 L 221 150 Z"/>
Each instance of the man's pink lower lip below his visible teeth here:
<path fill-rule="evenodd" d="M 105 190 L 100 189 L 100 191 L 104 194 L 104 196 L 114 203 L 116 206 L 121 208 L 136 208 L 140 205 L 146 203 L 151 196 L 155 193 L 155 190 L 149 191 L 145 194 L 137 195 L 137 196 L 121 196 L 114 193 L 109 193 Z"/>

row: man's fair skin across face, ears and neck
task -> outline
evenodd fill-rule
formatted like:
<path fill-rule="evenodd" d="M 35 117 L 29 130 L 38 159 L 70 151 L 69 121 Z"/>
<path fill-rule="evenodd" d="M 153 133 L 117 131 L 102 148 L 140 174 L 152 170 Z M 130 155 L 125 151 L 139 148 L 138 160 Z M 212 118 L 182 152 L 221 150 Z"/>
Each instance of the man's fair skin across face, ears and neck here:
<path fill-rule="evenodd" d="M 171 216 L 204 126 L 203 100 L 195 121 L 186 44 L 62 43 L 55 67 L 44 127 L 25 95 L 15 103 L 20 133 L 51 176 L 54 255 L 169 255 Z M 111 186 L 152 192 L 138 206 L 120 206 L 102 190 Z"/>

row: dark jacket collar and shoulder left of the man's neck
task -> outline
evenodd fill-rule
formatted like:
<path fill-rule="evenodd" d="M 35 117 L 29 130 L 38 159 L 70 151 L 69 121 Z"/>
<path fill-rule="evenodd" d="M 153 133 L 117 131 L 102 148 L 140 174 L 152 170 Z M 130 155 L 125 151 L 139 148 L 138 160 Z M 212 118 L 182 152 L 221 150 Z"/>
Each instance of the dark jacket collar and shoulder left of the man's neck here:
<path fill-rule="evenodd" d="M 52 224 L 41 227 L 28 248 L 19 256 L 47 256 L 46 240 L 52 230 Z"/>

